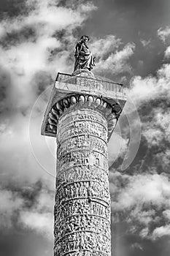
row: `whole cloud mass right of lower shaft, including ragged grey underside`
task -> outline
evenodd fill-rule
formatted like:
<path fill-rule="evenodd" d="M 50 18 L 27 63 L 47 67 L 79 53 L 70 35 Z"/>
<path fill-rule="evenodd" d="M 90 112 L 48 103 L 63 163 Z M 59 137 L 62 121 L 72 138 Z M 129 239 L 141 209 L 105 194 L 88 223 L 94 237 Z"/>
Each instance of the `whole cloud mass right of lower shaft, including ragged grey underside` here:
<path fill-rule="evenodd" d="M 118 172 L 112 173 L 110 178 L 112 221 L 123 218 L 129 224 L 129 232 L 155 238 L 161 222 L 169 223 L 169 211 L 162 214 L 163 209 L 170 206 L 169 178 L 158 174 L 128 176 Z"/>

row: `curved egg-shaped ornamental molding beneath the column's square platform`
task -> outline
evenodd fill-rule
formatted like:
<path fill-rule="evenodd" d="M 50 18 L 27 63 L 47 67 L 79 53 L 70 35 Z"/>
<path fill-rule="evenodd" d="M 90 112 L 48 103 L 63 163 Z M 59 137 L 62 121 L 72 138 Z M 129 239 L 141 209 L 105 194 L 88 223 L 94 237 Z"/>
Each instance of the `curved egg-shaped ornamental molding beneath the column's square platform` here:
<path fill-rule="evenodd" d="M 73 109 L 82 108 L 96 110 L 107 118 L 108 138 L 110 138 L 122 109 L 116 102 L 115 105 L 111 105 L 101 97 L 90 94 L 71 94 L 56 102 L 48 114 L 47 131 L 56 135 L 59 118 L 65 113 L 72 112 Z"/>

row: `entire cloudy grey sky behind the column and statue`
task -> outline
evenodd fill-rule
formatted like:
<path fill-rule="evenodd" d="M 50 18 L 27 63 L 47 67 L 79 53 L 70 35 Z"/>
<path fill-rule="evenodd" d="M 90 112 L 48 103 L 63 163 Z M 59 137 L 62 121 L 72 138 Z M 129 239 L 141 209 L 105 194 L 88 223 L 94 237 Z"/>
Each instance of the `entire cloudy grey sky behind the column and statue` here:
<path fill-rule="evenodd" d="M 1 0 L 0 12 L 0 254 L 53 255 L 55 140 L 40 127 L 88 34 L 93 72 L 128 95 L 109 142 L 112 255 L 168 256 L 170 1 Z"/>

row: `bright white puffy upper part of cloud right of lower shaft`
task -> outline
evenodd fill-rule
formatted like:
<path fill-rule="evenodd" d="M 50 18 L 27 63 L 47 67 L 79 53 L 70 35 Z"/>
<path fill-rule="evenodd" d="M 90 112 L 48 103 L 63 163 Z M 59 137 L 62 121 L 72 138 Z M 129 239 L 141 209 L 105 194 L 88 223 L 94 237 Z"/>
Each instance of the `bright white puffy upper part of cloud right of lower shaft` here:
<path fill-rule="evenodd" d="M 120 192 L 115 203 L 115 208 L 123 209 L 131 208 L 136 203 L 142 206 L 144 203 L 153 203 L 154 205 L 161 205 L 168 203 L 170 197 L 169 181 L 164 176 L 150 175 L 150 176 L 133 176 L 128 177 L 128 186 Z"/>

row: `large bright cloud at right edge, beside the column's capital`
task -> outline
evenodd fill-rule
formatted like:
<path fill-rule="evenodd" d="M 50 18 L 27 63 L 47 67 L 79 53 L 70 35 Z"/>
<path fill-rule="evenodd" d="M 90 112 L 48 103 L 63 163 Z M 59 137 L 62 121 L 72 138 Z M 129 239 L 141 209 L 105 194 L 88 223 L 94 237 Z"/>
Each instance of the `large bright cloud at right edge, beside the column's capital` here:
<path fill-rule="evenodd" d="M 169 69 L 169 64 L 163 64 L 155 76 L 134 77 L 128 89 L 141 116 L 142 135 L 147 139 L 147 151 L 139 167 L 143 172 L 169 173 Z"/>

